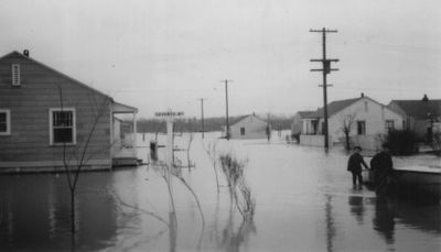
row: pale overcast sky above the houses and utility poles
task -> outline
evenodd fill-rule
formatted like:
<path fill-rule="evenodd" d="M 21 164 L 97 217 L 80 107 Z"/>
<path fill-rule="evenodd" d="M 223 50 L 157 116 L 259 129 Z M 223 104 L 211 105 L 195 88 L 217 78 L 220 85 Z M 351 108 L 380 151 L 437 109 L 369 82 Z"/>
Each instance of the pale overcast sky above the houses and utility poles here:
<path fill-rule="evenodd" d="M 0 54 L 34 59 L 135 106 L 225 116 L 293 114 L 323 105 L 322 37 L 340 68 L 329 101 L 361 92 L 441 98 L 441 1 L 1 0 Z"/>

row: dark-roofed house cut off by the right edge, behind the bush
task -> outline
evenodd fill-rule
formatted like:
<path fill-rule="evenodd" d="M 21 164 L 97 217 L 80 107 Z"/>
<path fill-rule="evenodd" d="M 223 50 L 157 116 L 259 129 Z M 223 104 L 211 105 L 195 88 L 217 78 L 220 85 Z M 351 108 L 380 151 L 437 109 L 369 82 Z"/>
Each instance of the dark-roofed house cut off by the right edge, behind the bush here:
<path fill-rule="evenodd" d="M 424 95 L 421 100 L 391 100 L 388 107 L 405 118 L 404 129 L 413 131 L 420 141 L 431 142 L 440 131 L 441 99 L 429 100 Z"/>

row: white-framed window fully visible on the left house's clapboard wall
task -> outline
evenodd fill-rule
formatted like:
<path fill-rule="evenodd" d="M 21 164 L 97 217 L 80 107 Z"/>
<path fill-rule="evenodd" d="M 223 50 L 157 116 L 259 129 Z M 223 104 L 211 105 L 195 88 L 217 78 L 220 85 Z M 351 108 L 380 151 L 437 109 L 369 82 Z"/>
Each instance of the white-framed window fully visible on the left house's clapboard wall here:
<path fill-rule="evenodd" d="M 50 143 L 75 144 L 76 125 L 75 109 L 50 109 Z"/>

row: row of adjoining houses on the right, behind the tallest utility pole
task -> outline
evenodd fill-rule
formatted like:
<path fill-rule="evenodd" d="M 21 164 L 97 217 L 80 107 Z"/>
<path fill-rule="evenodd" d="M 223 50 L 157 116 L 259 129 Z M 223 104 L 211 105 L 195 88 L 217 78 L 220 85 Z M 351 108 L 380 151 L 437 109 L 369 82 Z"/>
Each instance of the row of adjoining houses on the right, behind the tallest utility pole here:
<path fill-rule="evenodd" d="M 351 144 L 378 150 L 390 130 L 413 131 L 421 142 L 430 142 L 441 128 L 441 100 L 427 95 L 417 100 L 391 100 L 385 106 L 364 94 L 361 97 L 336 100 L 327 105 L 329 145 L 345 143 L 345 131 Z M 299 111 L 294 116 L 292 133 L 304 145 L 324 145 L 323 108 Z"/>

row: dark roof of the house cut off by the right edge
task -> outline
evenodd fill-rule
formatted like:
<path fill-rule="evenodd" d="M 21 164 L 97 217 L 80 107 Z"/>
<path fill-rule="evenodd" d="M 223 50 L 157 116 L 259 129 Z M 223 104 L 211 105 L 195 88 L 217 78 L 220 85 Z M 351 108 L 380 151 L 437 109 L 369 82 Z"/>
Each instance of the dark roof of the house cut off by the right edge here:
<path fill-rule="evenodd" d="M 415 119 L 426 120 L 429 116 L 432 118 L 441 117 L 441 99 L 435 100 L 391 100 L 391 103 L 397 105 L 407 116 Z"/>

